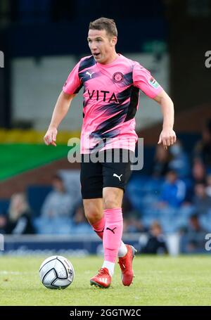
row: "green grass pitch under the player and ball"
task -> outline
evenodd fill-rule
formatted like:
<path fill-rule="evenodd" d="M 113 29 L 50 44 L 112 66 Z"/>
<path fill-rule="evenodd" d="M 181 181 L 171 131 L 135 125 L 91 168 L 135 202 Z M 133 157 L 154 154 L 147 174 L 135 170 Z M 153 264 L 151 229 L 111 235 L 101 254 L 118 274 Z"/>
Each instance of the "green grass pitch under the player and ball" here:
<path fill-rule="evenodd" d="M 147 257 L 134 259 L 135 278 L 122 286 L 120 268 L 110 288 L 89 285 L 101 267 L 101 257 L 68 257 L 75 279 L 65 290 L 49 290 L 39 280 L 46 257 L 0 257 L 0 305 L 211 305 L 210 256 Z"/>

